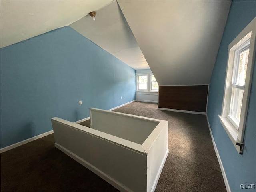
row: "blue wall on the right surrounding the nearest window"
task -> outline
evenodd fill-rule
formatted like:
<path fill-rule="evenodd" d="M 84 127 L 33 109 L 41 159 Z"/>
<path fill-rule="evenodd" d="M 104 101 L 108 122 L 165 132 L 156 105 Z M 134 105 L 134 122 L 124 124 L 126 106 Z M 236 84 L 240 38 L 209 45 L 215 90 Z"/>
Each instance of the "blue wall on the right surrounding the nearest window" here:
<path fill-rule="evenodd" d="M 256 184 L 256 64 L 244 135 L 244 153 L 239 155 L 220 124 L 228 60 L 228 45 L 256 16 L 256 1 L 233 1 L 218 51 L 209 87 L 207 115 L 232 192 L 244 191 L 240 184 Z M 256 191 L 247 189 L 246 191 Z"/>

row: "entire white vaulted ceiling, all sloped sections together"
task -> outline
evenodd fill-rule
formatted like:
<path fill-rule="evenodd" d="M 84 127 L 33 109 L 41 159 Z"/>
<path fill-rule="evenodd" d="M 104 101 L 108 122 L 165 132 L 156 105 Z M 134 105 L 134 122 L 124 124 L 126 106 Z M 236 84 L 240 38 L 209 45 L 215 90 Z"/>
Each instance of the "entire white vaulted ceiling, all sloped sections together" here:
<path fill-rule="evenodd" d="M 70 25 L 160 85 L 209 84 L 230 3 L 1 0 L 1 47 Z"/>

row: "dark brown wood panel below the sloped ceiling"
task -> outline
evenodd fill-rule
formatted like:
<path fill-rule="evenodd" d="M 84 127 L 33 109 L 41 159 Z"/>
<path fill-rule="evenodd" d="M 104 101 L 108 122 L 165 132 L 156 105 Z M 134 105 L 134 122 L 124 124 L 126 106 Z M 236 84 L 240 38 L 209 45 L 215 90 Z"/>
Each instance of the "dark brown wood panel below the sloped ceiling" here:
<path fill-rule="evenodd" d="M 158 107 L 206 112 L 208 85 L 159 86 Z"/>

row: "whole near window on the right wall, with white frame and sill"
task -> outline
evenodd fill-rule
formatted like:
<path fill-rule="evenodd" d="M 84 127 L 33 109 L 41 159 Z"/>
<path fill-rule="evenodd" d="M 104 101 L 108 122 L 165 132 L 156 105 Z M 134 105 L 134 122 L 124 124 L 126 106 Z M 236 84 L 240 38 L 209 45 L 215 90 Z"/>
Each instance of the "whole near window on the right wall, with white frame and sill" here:
<path fill-rule="evenodd" d="M 239 154 L 244 148 L 244 128 L 255 54 L 255 23 L 256 18 L 228 46 L 222 114 L 219 116 Z"/>

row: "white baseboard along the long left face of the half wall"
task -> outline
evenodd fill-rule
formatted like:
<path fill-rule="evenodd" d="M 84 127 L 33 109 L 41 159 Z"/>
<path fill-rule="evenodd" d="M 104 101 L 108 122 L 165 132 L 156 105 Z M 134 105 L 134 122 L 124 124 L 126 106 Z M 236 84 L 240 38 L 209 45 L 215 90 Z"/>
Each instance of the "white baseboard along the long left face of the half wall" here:
<path fill-rule="evenodd" d="M 96 175 L 100 176 L 102 179 L 104 179 L 106 182 L 108 182 L 109 184 L 111 184 L 112 186 L 117 188 L 118 190 L 120 190 L 122 192 L 132 191 L 129 188 L 127 188 L 126 186 L 124 186 L 122 183 L 118 182 L 117 180 L 114 180 L 112 177 L 108 176 L 107 174 L 102 172 L 100 169 L 96 168 L 95 166 L 88 163 L 86 160 L 80 158 L 76 154 L 72 153 L 68 149 L 62 147 L 58 143 L 55 143 L 55 147 L 58 148 L 59 150 L 61 150 L 62 152 L 64 152 L 66 155 L 70 156 L 72 159 L 76 160 L 78 163 L 82 164 L 83 166 L 85 166 L 86 168 L 91 170 L 92 172 L 94 172 Z"/>

